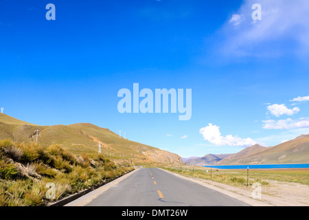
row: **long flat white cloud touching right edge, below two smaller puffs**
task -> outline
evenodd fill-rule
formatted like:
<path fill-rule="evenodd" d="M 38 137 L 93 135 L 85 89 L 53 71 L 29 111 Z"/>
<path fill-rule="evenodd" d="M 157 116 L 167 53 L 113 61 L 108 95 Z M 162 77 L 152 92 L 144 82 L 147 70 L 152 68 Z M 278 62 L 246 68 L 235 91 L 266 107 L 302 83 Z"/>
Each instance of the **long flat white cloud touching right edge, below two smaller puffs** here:
<path fill-rule="evenodd" d="M 265 120 L 263 129 L 304 129 L 309 128 L 309 118 L 299 118 L 292 120 Z"/>

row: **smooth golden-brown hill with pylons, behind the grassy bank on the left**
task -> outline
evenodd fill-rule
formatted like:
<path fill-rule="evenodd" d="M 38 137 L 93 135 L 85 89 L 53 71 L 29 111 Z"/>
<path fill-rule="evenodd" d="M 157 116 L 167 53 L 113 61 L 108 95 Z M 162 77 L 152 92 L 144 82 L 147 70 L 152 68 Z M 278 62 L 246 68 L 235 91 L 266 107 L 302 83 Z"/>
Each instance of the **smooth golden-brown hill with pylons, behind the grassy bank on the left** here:
<path fill-rule="evenodd" d="M 179 155 L 127 140 L 93 124 L 38 126 L 0 113 L 0 139 L 36 142 L 36 131 L 39 144 L 60 144 L 76 154 L 97 153 L 101 142 L 102 154 L 111 159 L 126 160 L 133 164 L 183 164 Z"/>

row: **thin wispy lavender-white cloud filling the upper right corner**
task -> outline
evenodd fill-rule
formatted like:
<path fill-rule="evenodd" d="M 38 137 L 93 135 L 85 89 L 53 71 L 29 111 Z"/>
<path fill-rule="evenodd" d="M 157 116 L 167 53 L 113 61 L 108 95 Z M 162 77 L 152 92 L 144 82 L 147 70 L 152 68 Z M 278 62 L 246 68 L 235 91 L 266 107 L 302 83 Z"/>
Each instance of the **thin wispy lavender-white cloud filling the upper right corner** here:
<path fill-rule="evenodd" d="M 253 21 L 255 0 L 244 0 L 223 28 L 227 39 L 222 50 L 236 56 L 309 54 L 308 0 L 260 0 L 262 20 Z M 242 18 L 242 19 L 241 19 Z"/>

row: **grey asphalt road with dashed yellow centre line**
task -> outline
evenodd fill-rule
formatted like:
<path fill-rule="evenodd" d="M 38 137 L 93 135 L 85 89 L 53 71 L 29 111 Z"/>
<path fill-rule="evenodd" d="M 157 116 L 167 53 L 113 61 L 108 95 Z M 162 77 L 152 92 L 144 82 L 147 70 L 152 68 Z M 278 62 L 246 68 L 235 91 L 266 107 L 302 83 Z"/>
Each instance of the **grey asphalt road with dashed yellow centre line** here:
<path fill-rule="evenodd" d="M 93 191 L 93 193 L 98 192 Z M 88 201 L 83 203 L 83 200 Z M 92 199 L 84 195 L 76 201 L 68 203 L 67 206 L 249 205 L 159 168 L 139 168 L 119 183 L 95 195 Z"/>

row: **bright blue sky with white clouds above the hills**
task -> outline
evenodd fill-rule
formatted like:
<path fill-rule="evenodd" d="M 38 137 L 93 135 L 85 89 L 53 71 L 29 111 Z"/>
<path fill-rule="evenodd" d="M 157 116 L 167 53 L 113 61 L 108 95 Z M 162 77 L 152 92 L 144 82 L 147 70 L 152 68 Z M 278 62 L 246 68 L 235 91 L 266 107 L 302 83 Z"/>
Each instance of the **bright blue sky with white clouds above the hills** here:
<path fill-rule="evenodd" d="M 47 3 L 56 21 L 45 19 Z M 1 1 L 0 106 L 34 124 L 121 129 L 182 157 L 273 146 L 309 133 L 308 9 L 302 0 Z M 119 113 L 117 92 L 133 83 L 192 89 L 191 120 Z"/>

